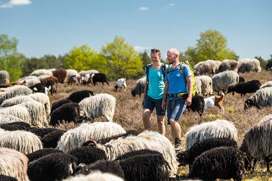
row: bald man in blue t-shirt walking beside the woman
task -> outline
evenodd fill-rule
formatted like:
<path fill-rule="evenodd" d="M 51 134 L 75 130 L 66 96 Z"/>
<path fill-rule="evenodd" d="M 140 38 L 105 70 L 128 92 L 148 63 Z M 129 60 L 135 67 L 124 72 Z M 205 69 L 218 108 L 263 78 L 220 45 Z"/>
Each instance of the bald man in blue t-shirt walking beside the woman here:
<path fill-rule="evenodd" d="M 176 151 L 182 149 L 178 121 L 186 105 L 191 105 L 193 92 L 192 73 L 189 66 L 183 64 L 185 74 L 183 76 L 180 69 L 179 55 L 179 51 L 175 48 L 167 51 L 167 60 L 172 66 L 165 72 L 164 98 L 161 104 L 163 110 L 167 108 L 168 125 L 171 125 Z M 186 77 L 187 84 L 184 77 Z"/>

